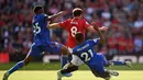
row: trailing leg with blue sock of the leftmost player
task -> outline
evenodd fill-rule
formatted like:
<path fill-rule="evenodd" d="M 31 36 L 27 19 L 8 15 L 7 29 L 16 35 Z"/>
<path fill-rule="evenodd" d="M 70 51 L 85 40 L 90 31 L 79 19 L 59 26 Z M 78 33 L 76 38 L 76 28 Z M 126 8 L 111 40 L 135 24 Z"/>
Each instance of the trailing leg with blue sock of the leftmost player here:
<path fill-rule="evenodd" d="M 40 48 L 32 46 L 31 50 L 29 52 L 28 56 L 24 60 L 19 61 L 16 65 L 14 65 L 11 69 L 9 69 L 4 76 L 3 80 L 8 80 L 8 77 L 13 73 L 14 71 L 19 70 L 20 68 L 26 66 L 31 60 L 34 59 L 34 55 L 40 53 Z"/>

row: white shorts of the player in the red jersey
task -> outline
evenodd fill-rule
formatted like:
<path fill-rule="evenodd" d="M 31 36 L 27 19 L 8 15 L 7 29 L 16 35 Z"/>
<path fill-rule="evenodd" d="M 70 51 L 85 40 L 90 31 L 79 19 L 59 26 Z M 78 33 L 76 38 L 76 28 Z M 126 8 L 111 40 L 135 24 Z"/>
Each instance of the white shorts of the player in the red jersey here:
<path fill-rule="evenodd" d="M 68 50 L 72 53 L 72 52 L 73 52 L 73 48 L 69 48 L 69 47 L 68 47 Z M 82 61 L 78 56 L 72 54 L 72 57 L 73 57 L 73 58 L 72 58 L 72 61 L 70 61 L 70 62 L 72 62 L 73 65 L 75 65 L 75 66 L 80 66 L 80 65 L 84 64 L 84 61 Z"/>

